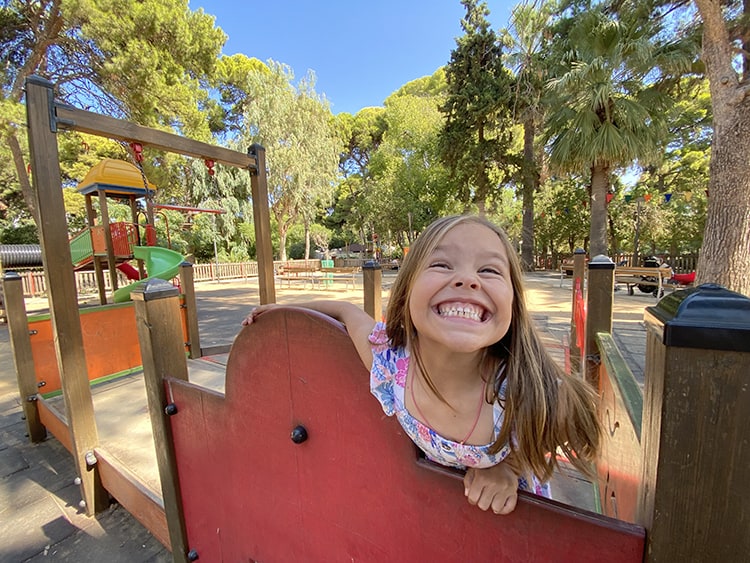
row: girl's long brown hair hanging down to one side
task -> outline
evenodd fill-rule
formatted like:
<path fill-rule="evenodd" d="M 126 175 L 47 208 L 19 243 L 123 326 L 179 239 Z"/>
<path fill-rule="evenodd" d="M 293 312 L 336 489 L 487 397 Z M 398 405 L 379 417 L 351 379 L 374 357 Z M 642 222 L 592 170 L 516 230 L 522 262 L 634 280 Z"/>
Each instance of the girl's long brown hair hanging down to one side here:
<path fill-rule="evenodd" d="M 557 466 L 556 452 L 591 475 L 601 439 L 596 416 L 596 394 L 577 376 L 566 375 L 550 357 L 526 309 L 521 265 L 505 232 L 477 215 L 453 215 L 430 224 L 411 246 L 391 290 L 386 310 L 387 335 L 394 347 L 406 347 L 417 362 L 429 388 L 445 402 L 424 370 L 419 335 L 409 312 L 414 281 L 448 231 L 476 224 L 492 230 L 508 256 L 513 305 L 507 334 L 485 350 L 482 375 L 489 378 L 490 403 L 500 401 L 505 417 L 490 451 L 510 444 L 514 463 L 523 473 L 549 479 Z M 502 374 L 500 365 L 506 362 Z M 503 382 L 504 396 L 500 395 Z"/>

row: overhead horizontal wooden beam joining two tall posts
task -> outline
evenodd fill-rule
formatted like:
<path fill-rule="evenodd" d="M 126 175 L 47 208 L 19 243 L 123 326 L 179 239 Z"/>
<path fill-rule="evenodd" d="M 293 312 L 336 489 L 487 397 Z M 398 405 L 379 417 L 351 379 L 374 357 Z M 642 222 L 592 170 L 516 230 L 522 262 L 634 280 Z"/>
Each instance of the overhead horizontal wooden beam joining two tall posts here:
<path fill-rule="evenodd" d="M 154 149 L 204 160 L 210 159 L 221 164 L 237 166 L 248 170 L 258 169 L 257 160 L 251 155 L 201 141 L 194 141 L 193 139 L 180 137 L 174 133 L 159 131 L 158 129 L 144 127 L 106 115 L 99 115 L 98 113 L 85 111 L 65 104 L 55 103 L 54 112 L 55 121 L 53 127 L 56 128 L 80 131 L 81 133 L 109 137 L 110 139 L 127 141 L 129 143 L 138 142 Z"/>

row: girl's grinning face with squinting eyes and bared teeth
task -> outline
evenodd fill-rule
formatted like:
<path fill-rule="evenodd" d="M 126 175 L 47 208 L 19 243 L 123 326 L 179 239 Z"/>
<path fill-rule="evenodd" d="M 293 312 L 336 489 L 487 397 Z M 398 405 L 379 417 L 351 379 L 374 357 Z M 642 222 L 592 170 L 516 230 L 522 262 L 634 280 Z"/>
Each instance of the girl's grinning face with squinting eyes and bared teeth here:
<path fill-rule="evenodd" d="M 513 284 L 505 246 L 475 223 L 453 227 L 427 257 L 409 296 L 420 349 L 477 352 L 508 332 Z"/>

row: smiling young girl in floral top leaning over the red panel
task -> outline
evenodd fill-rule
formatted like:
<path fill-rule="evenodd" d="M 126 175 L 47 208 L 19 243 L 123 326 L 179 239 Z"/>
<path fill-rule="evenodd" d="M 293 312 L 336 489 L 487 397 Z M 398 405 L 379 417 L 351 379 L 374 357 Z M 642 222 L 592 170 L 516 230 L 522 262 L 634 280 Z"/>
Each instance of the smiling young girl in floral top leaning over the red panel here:
<path fill-rule="evenodd" d="M 590 474 L 601 433 L 595 395 L 542 346 L 518 259 L 492 223 L 432 223 L 399 270 L 386 323 L 351 303 L 303 306 L 346 325 L 385 413 L 429 459 L 466 469 L 471 504 L 507 514 L 518 488 L 549 496 L 558 450 Z"/>

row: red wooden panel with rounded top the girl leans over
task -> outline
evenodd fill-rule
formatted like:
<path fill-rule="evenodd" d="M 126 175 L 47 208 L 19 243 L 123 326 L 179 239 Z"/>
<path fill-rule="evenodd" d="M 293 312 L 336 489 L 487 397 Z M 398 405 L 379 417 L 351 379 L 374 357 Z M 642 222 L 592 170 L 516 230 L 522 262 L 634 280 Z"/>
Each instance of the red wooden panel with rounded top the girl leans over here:
<path fill-rule="evenodd" d="M 207 561 L 634 562 L 643 529 L 524 495 L 509 516 L 470 506 L 369 393 L 341 326 L 273 310 L 234 342 L 226 399 L 167 394 L 188 543 Z M 304 425 L 309 439 L 295 444 Z"/>

